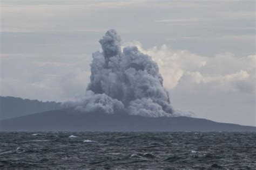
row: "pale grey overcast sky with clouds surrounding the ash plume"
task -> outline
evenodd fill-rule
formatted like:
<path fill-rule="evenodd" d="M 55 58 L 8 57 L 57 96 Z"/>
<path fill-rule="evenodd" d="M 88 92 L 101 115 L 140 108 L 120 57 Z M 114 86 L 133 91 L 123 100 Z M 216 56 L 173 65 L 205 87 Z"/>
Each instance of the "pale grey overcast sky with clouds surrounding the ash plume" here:
<path fill-rule="evenodd" d="M 158 63 L 174 109 L 256 125 L 255 1 L 1 1 L 0 95 L 83 96 L 109 29 Z"/>

